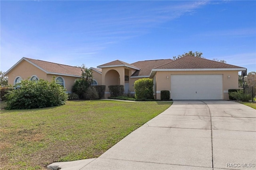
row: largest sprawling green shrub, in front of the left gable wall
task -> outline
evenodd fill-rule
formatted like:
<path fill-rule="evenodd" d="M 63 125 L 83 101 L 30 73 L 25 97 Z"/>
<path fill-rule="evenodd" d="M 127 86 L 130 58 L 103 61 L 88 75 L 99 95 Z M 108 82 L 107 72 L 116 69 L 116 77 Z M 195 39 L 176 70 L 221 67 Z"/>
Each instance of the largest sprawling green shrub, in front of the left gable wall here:
<path fill-rule="evenodd" d="M 6 109 L 35 109 L 64 105 L 68 99 L 66 89 L 54 79 L 47 81 L 22 80 L 14 87 L 19 89 L 6 93 Z"/>

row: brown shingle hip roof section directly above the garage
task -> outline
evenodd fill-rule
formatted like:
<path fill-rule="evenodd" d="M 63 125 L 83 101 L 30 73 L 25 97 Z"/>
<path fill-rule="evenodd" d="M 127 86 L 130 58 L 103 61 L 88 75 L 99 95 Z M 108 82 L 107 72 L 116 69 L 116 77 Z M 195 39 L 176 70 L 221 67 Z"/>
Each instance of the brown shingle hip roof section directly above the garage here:
<path fill-rule="evenodd" d="M 185 57 L 176 59 L 169 63 L 165 63 L 154 69 L 233 69 L 243 68 L 236 65 L 230 65 L 226 63 L 220 63 L 218 61 L 212 61 L 209 59 L 194 57 L 186 55 Z"/>

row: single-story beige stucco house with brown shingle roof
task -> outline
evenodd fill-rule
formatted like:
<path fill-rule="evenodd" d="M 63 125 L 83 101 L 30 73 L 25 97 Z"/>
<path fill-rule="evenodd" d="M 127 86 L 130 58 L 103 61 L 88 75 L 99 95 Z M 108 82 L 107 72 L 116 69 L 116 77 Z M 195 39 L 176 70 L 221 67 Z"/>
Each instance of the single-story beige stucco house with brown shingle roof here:
<path fill-rule="evenodd" d="M 187 55 L 172 59 L 158 59 L 126 63 L 120 60 L 90 68 L 93 85 L 106 85 L 105 97 L 109 96 L 108 85 L 124 85 L 126 93 L 134 92 L 134 82 L 141 78 L 154 81 L 154 95 L 160 99 L 160 91 L 170 91 L 172 99 L 228 100 L 228 89 L 238 89 L 238 71 L 246 68 L 209 59 Z M 74 81 L 81 77 L 81 68 L 23 57 L 4 76 L 8 83 L 21 79 L 47 79 L 53 76 L 71 92 Z"/>

